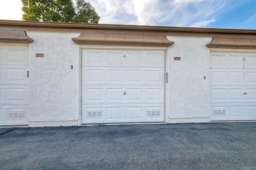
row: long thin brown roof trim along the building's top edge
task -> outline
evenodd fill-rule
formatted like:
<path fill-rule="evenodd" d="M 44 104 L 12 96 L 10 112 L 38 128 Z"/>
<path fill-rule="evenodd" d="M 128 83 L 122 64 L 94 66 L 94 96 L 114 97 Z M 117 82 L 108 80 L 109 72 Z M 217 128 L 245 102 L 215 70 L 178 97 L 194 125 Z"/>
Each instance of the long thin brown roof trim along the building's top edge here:
<path fill-rule="evenodd" d="M 256 30 L 246 30 L 246 29 L 212 29 L 212 28 L 192 28 L 192 27 L 112 25 L 112 24 L 93 24 L 93 23 L 66 23 L 66 22 L 40 22 L 40 21 L 14 21 L 14 20 L 0 20 L 0 25 L 27 26 L 27 27 L 82 28 L 82 29 L 172 31 L 172 32 L 192 32 L 192 33 L 194 32 L 194 33 L 256 34 Z"/>

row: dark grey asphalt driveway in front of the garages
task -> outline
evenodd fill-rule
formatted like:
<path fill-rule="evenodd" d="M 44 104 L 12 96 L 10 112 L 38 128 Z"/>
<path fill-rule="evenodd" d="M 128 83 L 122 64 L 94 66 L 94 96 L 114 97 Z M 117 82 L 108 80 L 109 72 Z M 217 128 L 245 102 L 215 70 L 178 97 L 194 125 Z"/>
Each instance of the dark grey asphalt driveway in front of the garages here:
<path fill-rule="evenodd" d="M 0 129 L 0 169 L 256 170 L 256 123 Z"/>

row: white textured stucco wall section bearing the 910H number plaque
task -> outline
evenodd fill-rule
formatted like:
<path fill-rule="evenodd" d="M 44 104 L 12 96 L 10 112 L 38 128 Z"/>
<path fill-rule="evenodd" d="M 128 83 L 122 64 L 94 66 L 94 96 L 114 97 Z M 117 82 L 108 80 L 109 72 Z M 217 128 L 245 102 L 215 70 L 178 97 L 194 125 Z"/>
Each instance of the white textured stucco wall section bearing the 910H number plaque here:
<path fill-rule="evenodd" d="M 27 34 L 34 40 L 29 45 L 29 121 L 77 121 L 80 116 L 79 46 L 72 38 L 80 34 Z M 36 53 L 44 53 L 44 58 L 36 57 Z"/>

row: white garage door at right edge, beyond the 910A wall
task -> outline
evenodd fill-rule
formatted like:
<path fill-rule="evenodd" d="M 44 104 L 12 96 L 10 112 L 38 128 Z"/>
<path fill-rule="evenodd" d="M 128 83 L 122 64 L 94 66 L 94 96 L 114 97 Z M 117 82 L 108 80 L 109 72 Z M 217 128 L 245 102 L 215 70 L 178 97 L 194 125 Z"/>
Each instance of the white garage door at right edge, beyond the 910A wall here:
<path fill-rule="evenodd" d="M 211 53 L 212 121 L 256 120 L 256 53 Z"/>

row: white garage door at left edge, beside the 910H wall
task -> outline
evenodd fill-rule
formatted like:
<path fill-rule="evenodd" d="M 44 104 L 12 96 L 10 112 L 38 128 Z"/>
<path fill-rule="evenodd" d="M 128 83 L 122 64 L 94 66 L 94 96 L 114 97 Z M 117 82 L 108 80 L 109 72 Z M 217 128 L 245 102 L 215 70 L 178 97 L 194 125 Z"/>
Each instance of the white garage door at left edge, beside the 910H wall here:
<path fill-rule="evenodd" d="M 28 125 L 28 47 L 0 45 L 0 125 Z"/>

